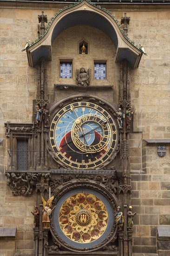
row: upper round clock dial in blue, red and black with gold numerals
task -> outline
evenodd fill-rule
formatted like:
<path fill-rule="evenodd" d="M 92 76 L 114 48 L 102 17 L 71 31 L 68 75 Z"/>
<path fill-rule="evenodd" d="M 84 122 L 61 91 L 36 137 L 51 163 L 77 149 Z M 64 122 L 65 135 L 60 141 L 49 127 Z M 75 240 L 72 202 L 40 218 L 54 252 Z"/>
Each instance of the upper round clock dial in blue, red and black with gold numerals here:
<path fill-rule="evenodd" d="M 117 141 L 117 128 L 111 115 L 87 101 L 61 108 L 50 127 L 53 152 L 72 168 L 97 168 L 111 157 Z"/>

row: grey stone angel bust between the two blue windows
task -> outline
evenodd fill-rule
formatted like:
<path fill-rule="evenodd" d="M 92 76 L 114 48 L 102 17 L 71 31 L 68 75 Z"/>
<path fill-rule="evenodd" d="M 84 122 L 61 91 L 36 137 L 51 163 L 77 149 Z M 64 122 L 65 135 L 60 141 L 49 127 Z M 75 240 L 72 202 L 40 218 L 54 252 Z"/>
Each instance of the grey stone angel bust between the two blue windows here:
<path fill-rule="evenodd" d="M 83 85 L 88 86 L 90 85 L 91 80 L 91 69 L 88 68 L 87 72 L 85 71 L 84 67 L 81 67 L 80 69 L 76 69 L 76 84 L 77 85 Z"/>

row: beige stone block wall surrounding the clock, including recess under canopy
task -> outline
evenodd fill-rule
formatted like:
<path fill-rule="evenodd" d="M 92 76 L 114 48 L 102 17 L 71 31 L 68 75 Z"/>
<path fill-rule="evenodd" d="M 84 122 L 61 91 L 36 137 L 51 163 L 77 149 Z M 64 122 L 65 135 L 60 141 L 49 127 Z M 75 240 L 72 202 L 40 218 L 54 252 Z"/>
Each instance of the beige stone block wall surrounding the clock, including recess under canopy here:
<path fill-rule="evenodd" d="M 35 233 L 33 233 L 33 216 L 31 211 L 37 203 L 35 185 L 32 195 L 13 195 L 6 177 L 16 168 L 11 164 L 12 138 L 8 137 L 7 122 L 13 127 L 20 127 L 20 132 L 27 124 L 35 122 L 35 105 L 39 84 L 38 65 L 28 65 L 27 54 L 21 52 L 27 40 L 35 41 L 38 38 L 38 15 L 44 11 L 48 22 L 59 9 L 64 9 L 66 3 L 38 3 L 25 4 L 0 2 L 0 226 L 1 233 L 7 230 L 10 233 L 16 228 L 15 239 L 13 236 L 0 236 L 0 256 L 35 255 Z M 128 25 L 128 37 L 135 45 L 140 44 L 147 52 L 143 54 L 138 68 L 130 69 L 131 105 L 136 109 L 133 115 L 133 127 L 129 134 L 129 165 L 131 171 L 131 195 L 128 203 L 133 206 L 134 227 L 132 235 L 132 255 L 143 256 L 145 253 L 158 256 L 168 255 L 170 251 L 167 241 L 158 239 L 157 226 L 170 224 L 170 112 L 169 112 L 169 77 L 170 77 L 170 11 L 168 4 L 126 5 L 102 4 L 115 15 L 120 24 L 124 13 L 131 17 Z M 47 24 L 45 23 L 45 27 Z M 78 54 L 79 43 L 85 40 L 88 43 L 88 54 Z M 119 42 L 120 44 L 122 42 Z M 57 102 L 64 98 L 89 94 L 108 102 L 118 110 L 120 63 L 115 63 L 116 47 L 107 33 L 98 28 L 76 24 L 62 31 L 52 43 L 52 61 L 46 61 L 47 91 L 49 106 L 52 109 Z M 61 60 L 72 60 L 72 78 L 61 79 L 59 76 L 59 63 Z M 105 61 L 106 80 L 94 79 L 94 61 Z M 59 89 L 54 84 L 75 84 L 76 69 L 80 67 L 92 68 L 91 85 L 95 89 L 70 90 Z M 107 88 L 105 86 L 113 86 Z M 101 88 L 96 89 L 96 86 Z M 6 125 L 4 125 L 6 123 Z M 11 124 L 10 124 L 11 123 Z M 15 124 L 12 126 L 12 124 Z M 30 129 L 31 125 L 28 125 Z M 11 133 L 11 131 L 10 131 Z M 25 137 L 32 138 L 30 142 L 33 150 L 37 150 L 36 135 L 34 130 L 24 130 Z M 17 134 L 17 135 L 16 135 Z M 20 136 L 13 130 L 13 138 Z M 166 146 L 166 155 L 157 155 L 157 146 Z M 35 160 L 33 156 L 33 161 Z M 44 172 L 50 168 L 58 168 L 48 155 L 48 165 L 32 170 Z M 123 163 L 124 164 L 124 163 Z M 124 168 L 120 161 L 115 160 L 115 168 L 122 177 Z M 111 168 L 111 165 L 109 166 Z M 58 177 L 57 175 L 55 178 Z M 76 179 L 73 175 L 72 179 Z M 59 178 L 61 178 L 59 174 Z M 96 178 L 96 177 L 95 177 Z M 9 183 L 7 183 L 9 182 Z M 14 182 L 14 181 L 13 181 Z M 45 181 L 45 183 L 48 183 Z M 61 185 L 64 182 L 61 182 Z M 109 186 L 110 183 L 108 183 Z M 122 202 L 121 202 L 122 200 Z M 118 198 L 118 203 L 124 206 L 123 197 Z M 41 204 L 39 199 L 39 204 Z M 42 210 L 42 205 L 41 205 Z M 13 232 L 11 232 L 12 234 Z M 41 234 L 42 235 L 42 234 Z M 42 238 L 41 238 L 42 239 Z M 118 244 L 116 244 L 118 245 Z M 127 246 L 127 244 L 126 244 Z M 119 244 L 120 247 L 120 244 Z M 120 251 L 120 248 L 119 248 Z M 105 252 L 103 252 L 105 255 Z M 111 254 L 112 253 L 112 254 Z M 111 252 L 111 255 L 116 255 Z M 124 251 L 124 256 L 127 256 Z M 138 254 L 137 254 L 138 253 Z M 82 253 L 81 253 L 82 254 Z M 83 255 L 93 255 L 93 253 Z M 96 253 L 95 253 L 96 254 Z M 37 254 L 38 255 L 38 254 Z M 41 254 L 39 254 L 41 255 Z M 46 254 L 47 255 L 47 254 Z M 55 254 L 57 255 L 57 254 Z M 64 255 L 64 254 L 63 254 Z M 97 255 L 97 254 L 96 254 Z M 43 255 L 45 256 L 45 254 Z M 123 256 L 123 254 L 121 255 Z M 129 255 L 130 256 L 130 255 Z"/>

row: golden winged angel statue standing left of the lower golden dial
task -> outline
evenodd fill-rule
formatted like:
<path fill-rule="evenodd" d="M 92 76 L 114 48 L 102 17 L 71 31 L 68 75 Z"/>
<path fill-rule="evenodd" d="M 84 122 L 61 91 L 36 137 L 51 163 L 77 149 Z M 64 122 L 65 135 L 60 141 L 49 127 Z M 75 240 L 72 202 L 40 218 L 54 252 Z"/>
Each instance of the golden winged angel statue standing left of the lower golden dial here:
<path fill-rule="evenodd" d="M 46 200 L 42 197 L 42 202 L 43 202 L 43 217 L 42 217 L 42 222 L 43 222 L 43 229 L 50 229 L 50 214 L 52 212 L 51 206 L 52 206 L 52 200 L 54 197 L 52 196 L 51 198 Z"/>

